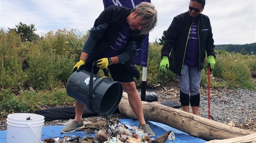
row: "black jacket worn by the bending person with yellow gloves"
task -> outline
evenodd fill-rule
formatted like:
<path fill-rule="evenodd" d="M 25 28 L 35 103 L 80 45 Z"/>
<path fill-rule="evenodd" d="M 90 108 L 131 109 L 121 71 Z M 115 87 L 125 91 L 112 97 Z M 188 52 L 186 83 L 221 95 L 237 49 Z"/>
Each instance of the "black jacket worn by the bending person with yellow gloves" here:
<path fill-rule="evenodd" d="M 83 46 L 83 52 L 88 53 L 89 57 L 85 63 L 91 62 L 100 54 L 106 51 L 121 29 L 127 16 L 131 13 L 130 8 L 120 6 L 110 6 L 100 14 L 95 20 L 93 28 L 90 30 L 88 39 Z M 119 57 L 119 63 L 133 60 L 140 46 L 142 45 L 145 35 L 139 35 L 140 31 L 132 31 L 126 48 Z"/>

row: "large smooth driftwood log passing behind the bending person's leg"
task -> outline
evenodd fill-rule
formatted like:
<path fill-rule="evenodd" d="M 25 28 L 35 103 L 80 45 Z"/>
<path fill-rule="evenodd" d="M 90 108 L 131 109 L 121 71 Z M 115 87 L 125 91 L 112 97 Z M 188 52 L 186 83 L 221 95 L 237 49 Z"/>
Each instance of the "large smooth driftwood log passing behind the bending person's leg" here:
<path fill-rule="evenodd" d="M 145 120 L 160 122 L 206 141 L 242 137 L 255 133 L 254 131 L 232 127 L 175 108 L 164 106 L 157 101 L 142 101 L 142 109 Z M 128 96 L 125 92 L 123 92 L 123 97 L 119 104 L 119 111 L 126 114 L 129 118 L 137 119 L 130 108 Z"/>

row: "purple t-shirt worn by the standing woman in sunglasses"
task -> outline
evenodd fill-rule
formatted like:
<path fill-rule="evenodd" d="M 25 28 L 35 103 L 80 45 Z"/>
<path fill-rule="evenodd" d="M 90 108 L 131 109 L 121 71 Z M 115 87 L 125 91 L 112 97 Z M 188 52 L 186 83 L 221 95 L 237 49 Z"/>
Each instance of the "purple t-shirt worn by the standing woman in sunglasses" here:
<path fill-rule="evenodd" d="M 198 18 L 193 19 L 193 24 L 190 28 L 190 35 L 187 41 L 184 65 L 194 68 L 198 66 L 199 58 L 199 39 L 197 33 Z"/>

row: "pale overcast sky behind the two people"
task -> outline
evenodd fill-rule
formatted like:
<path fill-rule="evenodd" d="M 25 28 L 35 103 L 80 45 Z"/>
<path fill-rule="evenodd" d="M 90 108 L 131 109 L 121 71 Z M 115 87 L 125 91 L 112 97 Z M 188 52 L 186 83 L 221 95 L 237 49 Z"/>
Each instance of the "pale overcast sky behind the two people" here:
<path fill-rule="evenodd" d="M 173 17 L 186 12 L 190 0 L 151 0 L 158 11 L 158 24 L 149 42 L 161 38 Z M 20 21 L 34 24 L 44 35 L 66 28 L 89 30 L 104 9 L 102 0 L 0 0 L 0 27 L 15 28 Z M 206 0 L 203 14 L 209 16 L 214 44 L 256 42 L 256 0 Z"/>

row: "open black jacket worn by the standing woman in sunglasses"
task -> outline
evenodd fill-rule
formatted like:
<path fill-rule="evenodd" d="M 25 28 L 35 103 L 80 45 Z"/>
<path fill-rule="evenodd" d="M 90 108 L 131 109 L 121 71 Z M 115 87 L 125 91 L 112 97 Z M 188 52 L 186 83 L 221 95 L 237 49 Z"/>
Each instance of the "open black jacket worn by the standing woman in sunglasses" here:
<path fill-rule="evenodd" d="M 167 30 L 168 36 L 161 50 L 161 57 L 166 56 L 169 58 L 169 69 L 178 75 L 182 75 L 182 66 L 192 23 L 192 18 L 188 12 L 175 16 Z M 198 71 L 200 71 L 204 68 L 205 52 L 207 56 L 213 55 L 216 57 L 211 23 L 208 16 L 199 14 L 197 33 L 199 39 Z M 169 56 L 170 53 L 171 55 Z"/>

